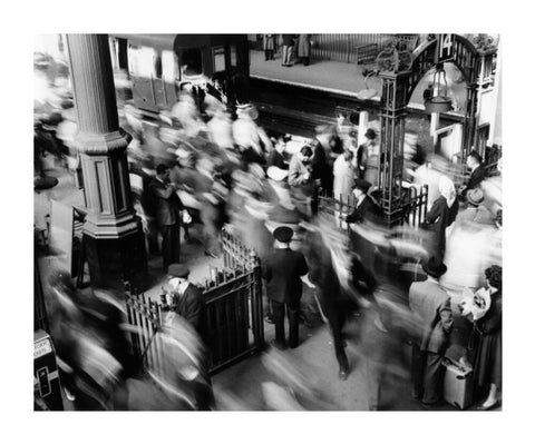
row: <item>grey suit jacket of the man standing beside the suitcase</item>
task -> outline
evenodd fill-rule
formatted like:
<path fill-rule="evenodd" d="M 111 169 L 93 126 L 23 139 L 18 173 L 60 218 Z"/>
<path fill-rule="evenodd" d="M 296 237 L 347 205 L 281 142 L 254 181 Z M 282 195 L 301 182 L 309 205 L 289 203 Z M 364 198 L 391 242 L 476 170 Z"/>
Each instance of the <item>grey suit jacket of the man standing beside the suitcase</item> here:
<path fill-rule="evenodd" d="M 420 326 L 420 351 L 444 353 L 454 327 L 451 300 L 438 284 L 425 280 L 409 289 L 409 305 Z"/>

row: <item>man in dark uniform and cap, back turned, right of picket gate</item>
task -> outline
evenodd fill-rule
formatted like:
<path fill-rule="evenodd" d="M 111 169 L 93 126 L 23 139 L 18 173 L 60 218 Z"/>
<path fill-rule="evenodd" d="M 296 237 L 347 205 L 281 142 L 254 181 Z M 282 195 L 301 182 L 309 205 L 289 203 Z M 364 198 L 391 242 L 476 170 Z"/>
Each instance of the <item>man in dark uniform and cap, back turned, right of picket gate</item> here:
<path fill-rule="evenodd" d="M 304 256 L 290 248 L 293 230 L 282 226 L 273 231 L 274 250 L 262 265 L 262 276 L 266 280 L 268 297 L 273 309 L 275 341 L 272 345 L 279 349 L 285 347 L 284 310 L 290 323 L 289 344 L 299 345 L 299 302 L 302 295 L 301 276 L 309 272 Z"/>

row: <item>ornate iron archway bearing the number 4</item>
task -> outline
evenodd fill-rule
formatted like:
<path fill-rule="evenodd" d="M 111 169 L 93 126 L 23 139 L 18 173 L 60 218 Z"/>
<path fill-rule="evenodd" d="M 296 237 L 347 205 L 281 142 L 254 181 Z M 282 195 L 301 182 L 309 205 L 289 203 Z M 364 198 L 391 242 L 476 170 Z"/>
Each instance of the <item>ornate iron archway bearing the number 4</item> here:
<path fill-rule="evenodd" d="M 467 106 L 464 119 L 461 161 L 475 142 L 478 91 L 490 81 L 496 49 L 481 51 L 468 39 L 458 34 L 437 34 L 414 53 L 406 71 L 381 71 L 381 146 L 379 157 L 379 189 L 382 208 L 389 225 L 403 216 L 405 117 L 407 105 L 416 86 L 429 69 L 453 62 L 463 73 L 467 88 Z"/>

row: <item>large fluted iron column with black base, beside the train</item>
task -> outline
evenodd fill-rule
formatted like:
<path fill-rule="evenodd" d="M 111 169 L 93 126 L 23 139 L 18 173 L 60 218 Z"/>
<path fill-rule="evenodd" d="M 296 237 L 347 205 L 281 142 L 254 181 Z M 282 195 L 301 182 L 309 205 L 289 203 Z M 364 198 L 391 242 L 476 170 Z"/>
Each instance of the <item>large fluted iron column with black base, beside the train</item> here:
<path fill-rule="evenodd" d="M 147 258 L 130 198 L 126 147 L 119 128 L 107 34 L 67 34 L 87 217 L 84 241 L 94 287 L 143 289 Z"/>

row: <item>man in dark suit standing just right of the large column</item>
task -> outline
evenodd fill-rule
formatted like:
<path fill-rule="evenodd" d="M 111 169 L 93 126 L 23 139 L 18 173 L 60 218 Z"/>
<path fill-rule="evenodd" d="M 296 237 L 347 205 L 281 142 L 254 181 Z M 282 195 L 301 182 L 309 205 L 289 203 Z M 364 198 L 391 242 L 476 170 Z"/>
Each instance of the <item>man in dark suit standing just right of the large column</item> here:
<path fill-rule="evenodd" d="M 176 194 L 176 185 L 169 181 L 169 167 L 158 165 L 156 177 L 150 180 L 148 189 L 155 198 L 156 221 L 162 234 L 162 256 L 164 270 L 181 257 L 181 210 L 184 208 Z"/>

